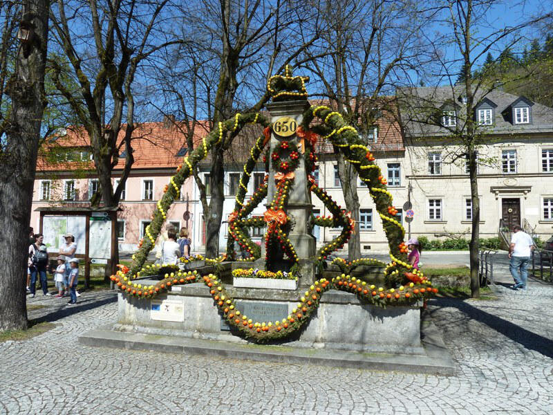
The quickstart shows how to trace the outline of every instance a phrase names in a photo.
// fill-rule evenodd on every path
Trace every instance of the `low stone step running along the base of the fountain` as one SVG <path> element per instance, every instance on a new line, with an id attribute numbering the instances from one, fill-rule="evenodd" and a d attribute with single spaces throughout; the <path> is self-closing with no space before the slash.
<path id="1" fill-rule="evenodd" d="M 445 347 L 440 331 L 431 322 L 429 315 L 426 315 L 421 324 L 421 343 L 426 356 L 236 344 L 169 335 L 124 333 L 115 331 L 112 327 L 112 325 L 108 325 L 88 331 L 79 336 L 79 343 L 93 347 L 186 353 L 189 355 L 254 360 L 256 362 L 282 362 L 443 376 L 453 376 L 456 373 L 456 365 L 447 347 Z"/>

